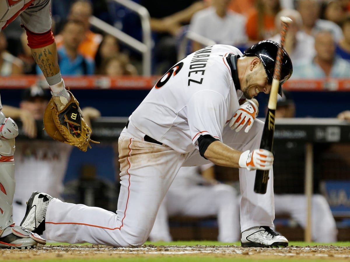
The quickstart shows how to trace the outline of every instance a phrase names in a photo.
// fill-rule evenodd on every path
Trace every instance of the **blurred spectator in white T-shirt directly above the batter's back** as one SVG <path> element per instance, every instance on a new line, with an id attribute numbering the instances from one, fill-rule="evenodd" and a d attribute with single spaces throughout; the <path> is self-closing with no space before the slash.
<path id="1" fill-rule="evenodd" d="M 244 15 L 228 9 L 230 0 L 213 0 L 212 6 L 196 12 L 190 22 L 189 30 L 212 39 L 217 44 L 240 46 L 247 42 Z M 193 42 L 193 50 L 204 46 Z"/>

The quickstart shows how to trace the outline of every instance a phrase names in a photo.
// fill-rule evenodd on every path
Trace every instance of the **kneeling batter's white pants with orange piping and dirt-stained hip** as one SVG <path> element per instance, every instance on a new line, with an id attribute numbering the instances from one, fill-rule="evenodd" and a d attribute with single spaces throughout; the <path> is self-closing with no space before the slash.
<path id="1" fill-rule="evenodd" d="M 263 125 L 256 119 L 249 133 L 236 133 L 226 126 L 223 142 L 241 151 L 259 148 Z M 146 142 L 144 135 L 129 128 L 124 128 L 120 134 L 121 189 L 117 212 L 63 203 L 54 198 L 46 214 L 49 240 L 114 247 L 137 247 L 147 240 L 159 206 L 180 167 L 203 165 L 209 160 L 202 158 L 198 150 L 182 154 L 168 146 Z M 240 168 L 239 173 L 241 231 L 260 225 L 272 227 L 272 179 L 266 194 L 261 195 L 253 190 L 255 171 Z"/>

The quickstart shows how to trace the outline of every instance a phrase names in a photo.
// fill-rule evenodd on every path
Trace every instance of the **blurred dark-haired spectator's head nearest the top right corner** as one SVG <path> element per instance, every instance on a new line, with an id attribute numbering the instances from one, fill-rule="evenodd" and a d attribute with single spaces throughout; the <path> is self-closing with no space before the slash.
<path id="1" fill-rule="evenodd" d="M 340 0 L 323 1 L 321 5 L 320 18 L 336 23 L 341 26 L 346 15 L 346 11 Z"/>

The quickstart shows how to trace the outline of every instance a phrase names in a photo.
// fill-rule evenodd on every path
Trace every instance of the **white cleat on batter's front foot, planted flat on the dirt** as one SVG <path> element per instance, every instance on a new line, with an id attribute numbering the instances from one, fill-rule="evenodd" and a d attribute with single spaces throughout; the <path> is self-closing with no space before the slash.
<path id="1" fill-rule="evenodd" d="M 242 247 L 287 247 L 288 240 L 268 226 L 254 226 L 242 232 Z"/>

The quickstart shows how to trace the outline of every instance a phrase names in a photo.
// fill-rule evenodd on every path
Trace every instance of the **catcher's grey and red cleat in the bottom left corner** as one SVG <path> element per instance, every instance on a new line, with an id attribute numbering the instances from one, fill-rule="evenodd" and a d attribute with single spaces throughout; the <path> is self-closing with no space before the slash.
<path id="1" fill-rule="evenodd" d="M 21 226 L 12 225 L 11 233 L 0 237 L 0 248 L 30 249 L 36 248 L 38 244 L 45 245 L 46 240 Z"/>

